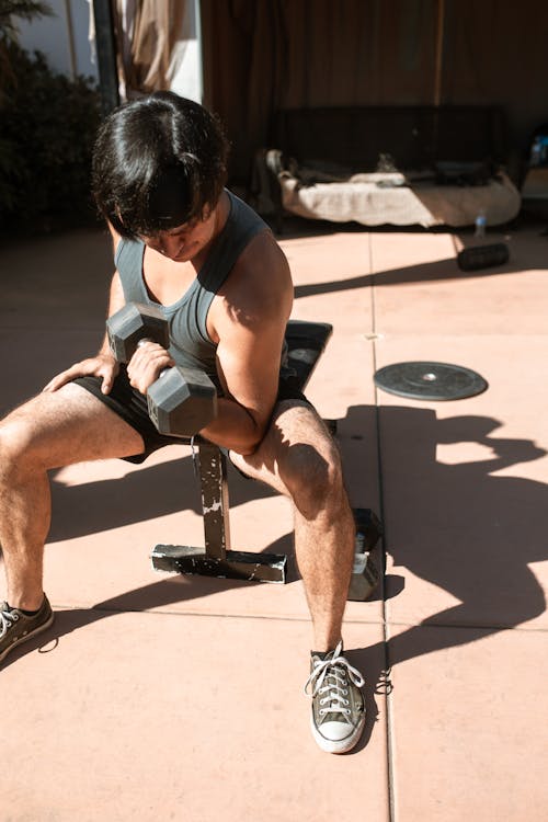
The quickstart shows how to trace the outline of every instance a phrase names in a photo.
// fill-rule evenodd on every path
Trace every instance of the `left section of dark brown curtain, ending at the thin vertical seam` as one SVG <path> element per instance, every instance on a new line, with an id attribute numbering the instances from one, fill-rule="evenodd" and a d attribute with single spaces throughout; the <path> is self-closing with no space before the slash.
<path id="1" fill-rule="evenodd" d="M 437 0 L 202 0 L 205 103 L 244 180 L 279 109 L 432 103 Z"/>

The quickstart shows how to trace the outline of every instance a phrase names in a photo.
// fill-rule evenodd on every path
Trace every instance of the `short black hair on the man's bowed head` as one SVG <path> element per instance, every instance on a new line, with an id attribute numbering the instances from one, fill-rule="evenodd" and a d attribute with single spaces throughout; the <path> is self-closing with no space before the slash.
<path id="1" fill-rule="evenodd" d="M 123 237 L 153 237 L 215 208 L 228 141 L 204 106 L 160 91 L 115 109 L 93 149 L 99 210 Z"/>

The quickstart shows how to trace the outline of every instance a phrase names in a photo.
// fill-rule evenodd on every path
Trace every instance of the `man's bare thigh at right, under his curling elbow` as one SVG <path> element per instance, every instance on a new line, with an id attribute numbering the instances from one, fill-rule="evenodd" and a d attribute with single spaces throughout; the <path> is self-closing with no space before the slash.
<path id="1" fill-rule="evenodd" d="M 307 401 L 283 400 L 274 409 L 270 429 L 256 452 L 242 456 L 230 452 L 233 465 L 252 479 L 288 494 L 286 466 L 295 456 L 306 465 L 307 455 L 332 460 L 338 449 L 324 422 Z M 317 461 L 317 459 L 315 459 Z"/>

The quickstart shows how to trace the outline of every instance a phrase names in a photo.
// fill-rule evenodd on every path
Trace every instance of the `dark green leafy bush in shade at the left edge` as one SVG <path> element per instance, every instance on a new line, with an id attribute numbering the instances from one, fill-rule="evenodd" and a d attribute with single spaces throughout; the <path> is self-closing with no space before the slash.
<path id="1" fill-rule="evenodd" d="M 94 83 L 52 71 L 7 46 L 16 77 L 0 105 L 0 221 L 35 231 L 91 217 L 91 151 L 100 121 Z"/>

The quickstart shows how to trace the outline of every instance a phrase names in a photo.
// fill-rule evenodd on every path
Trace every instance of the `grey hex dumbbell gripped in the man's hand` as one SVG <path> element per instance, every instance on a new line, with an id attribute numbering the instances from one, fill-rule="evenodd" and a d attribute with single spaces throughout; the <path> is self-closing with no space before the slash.
<path id="1" fill-rule="evenodd" d="M 106 333 L 118 363 L 128 363 L 142 342 L 168 350 L 169 326 L 156 306 L 128 302 L 106 320 Z M 197 368 L 165 368 L 147 391 L 148 413 L 160 434 L 193 436 L 217 415 L 217 391 Z"/>

